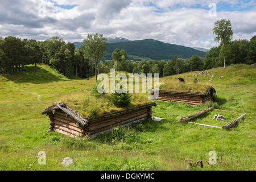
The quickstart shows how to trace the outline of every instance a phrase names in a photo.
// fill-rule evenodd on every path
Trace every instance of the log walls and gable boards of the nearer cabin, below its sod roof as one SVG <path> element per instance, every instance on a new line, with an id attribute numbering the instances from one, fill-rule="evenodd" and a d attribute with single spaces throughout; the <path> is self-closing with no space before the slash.
<path id="1" fill-rule="evenodd" d="M 68 135 L 69 137 L 97 137 L 98 133 L 111 130 L 113 127 L 131 125 L 147 118 L 151 118 L 151 107 L 155 102 L 148 102 L 127 109 L 116 110 L 97 117 L 83 118 L 76 111 L 62 102 L 44 109 L 42 114 L 50 119 L 49 131 Z"/>

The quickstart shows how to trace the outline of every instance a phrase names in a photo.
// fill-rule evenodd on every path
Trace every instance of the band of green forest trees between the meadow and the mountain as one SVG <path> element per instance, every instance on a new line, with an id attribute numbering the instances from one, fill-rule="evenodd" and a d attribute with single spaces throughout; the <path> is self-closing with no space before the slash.
<path id="1" fill-rule="evenodd" d="M 0 73 L 22 72 L 28 64 L 34 64 L 36 72 L 36 64 L 44 63 L 67 77 L 88 78 L 96 73 L 108 73 L 111 68 L 130 73 L 159 73 L 162 77 L 224 66 L 221 45 L 211 48 L 204 59 L 194 55 L 190 59 L 174 56 L 169 61 L 130 61 L 125 50 L 115 49 L 113 60 L 104 61 L 101 57 L 106 45 L 102 46 L 100 55 L 92 57 L 88 55 L 90 51 L 86 51 L 85 47 L 89 45 L 86 40 L 81 49 L 76 49 L 72 43 L 65 43 L 58 37 L 43 42 L 13 36 L 0 38 Z M 250 40 L 233 40 L 225 46 L 226 65 L 253 64 L 255 61 L 256 36 Z"/>

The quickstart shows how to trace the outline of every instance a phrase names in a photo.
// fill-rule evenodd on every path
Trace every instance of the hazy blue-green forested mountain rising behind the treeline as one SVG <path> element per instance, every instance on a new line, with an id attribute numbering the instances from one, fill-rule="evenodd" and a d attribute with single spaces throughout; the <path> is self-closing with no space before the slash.
<path id="1" fill-rule="evenodd" d="M 115 48 L 125 49 L 129 59 L 133 60 L 170 60 L 174 56 L 186 59 L 193 55 L 204 57 L 206 53 L 195 48 L 163 43 L 154 39 L 131 41 L 125 38 L 109 38 L 108 42 L 106 60 L 112 59 L 112 52 Z M 73 44 L 76 48 L 81 48 L 81 43 Z"/>

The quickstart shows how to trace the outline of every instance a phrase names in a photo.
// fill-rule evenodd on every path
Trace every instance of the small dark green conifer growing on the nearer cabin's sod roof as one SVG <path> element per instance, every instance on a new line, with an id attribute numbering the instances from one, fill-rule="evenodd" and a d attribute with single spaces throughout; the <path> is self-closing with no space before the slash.
<path id="1" fill-rule="evenodd" d="M 131 102 L 131 94 L 127 93 L 112 93 L 110 101 L 117 107 L 127 107 Z"/>

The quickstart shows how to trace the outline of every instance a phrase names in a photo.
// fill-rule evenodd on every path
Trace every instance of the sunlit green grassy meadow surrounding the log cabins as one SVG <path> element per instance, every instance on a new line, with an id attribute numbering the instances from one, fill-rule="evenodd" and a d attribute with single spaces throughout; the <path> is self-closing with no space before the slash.
<path id="1" fill-rule="evenodd" d="M 215 101 L 202 106 L 156 101 L 152 115 L 162 121 L 146 120 L 94 140 L 46 134 L 49 119 L 41 114 L 69 94 L 88 92 L 94 78 L 69 80 L 48 66 L 39 67 L 38 73 L 31 65 L 24 73 L 0 75 L 0 170 L 187 170 L 185 159 L 204 163 L 204 168 L 188 170 L 255 170 L 255 67 L 231 65 L 210 69 L 206 77 L 191 72 L 160 78 L 189 76 L 185 80 L 193 81 L 195 74 L 198 84 L 216 89 Z M 216 109 L 193 121 L 222 126 L 247 115 L 232 130 L 177 122 L 209 106 Z M 213 120 L 214 114 L 227 120 Z M 46 165 L 38 164 L 39 151 L 46 152 Z M 217 152 L 216 165 L 208 165 L 209 151 Z M 68 156 L 75 162 L 63 167 L 61 161 Z"/>

